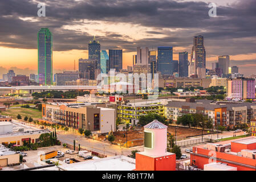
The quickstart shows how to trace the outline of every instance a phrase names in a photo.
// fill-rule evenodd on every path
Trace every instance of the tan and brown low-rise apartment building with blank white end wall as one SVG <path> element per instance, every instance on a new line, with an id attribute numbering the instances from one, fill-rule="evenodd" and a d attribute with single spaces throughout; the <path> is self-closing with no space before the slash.
<path id="1" fill-rule="evenodd" d="M 116 110 L 99 105 L 42 105 L 43 121 L 101 134 L 115 131 Z"/>

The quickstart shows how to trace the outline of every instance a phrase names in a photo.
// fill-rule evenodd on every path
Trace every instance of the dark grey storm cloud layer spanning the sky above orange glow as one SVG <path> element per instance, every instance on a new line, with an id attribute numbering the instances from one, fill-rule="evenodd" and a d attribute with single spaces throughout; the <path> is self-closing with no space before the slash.
<path id="1" fill-rule="evenodd" d="M 217 17 L 208 16 L 209 7 L 205 2 L 177 2 L 168 0 L 90 0 L 75 2 L 46 2 L 46 17 L 37 16 L 37 3 L 29 0 L 0 2 L 0 46 L 15 48 L 36 48 L 36 32 L 48 27 L 54 34 L 54 49 L 87 49 L 92 35 L 63 30 L 64 25 L 84 24 L 83 19 L 104 20 L 140 24 L 150 27 L 148 38 L 128 41 L 121 32 L 105 32 L 97 36 L 101 48 L 117 48 L 135 51 L 136 46 L 173 46 L 192 48 L 194 35 L 205 37 L 207 56 L 237 55 L 255 52 L 256 1 L 240 1 L 230 6 L 218 6 Z M 38 22 L 29 22 L 19 17 L 34 17 Z M 169 31 L 166 28 L 182 28 Z M 152 31 L 153 29 L 153 31 Z M 104 32 L 104 30 L 101 30 Z M 154 35 L 165 35 L 154 38 Z M 152 35 L 152 36 L 150 36 Z M 131 39 L 130 39 L 131 40 Z M 174 52 L 177 53 L 177 52 Z"/>

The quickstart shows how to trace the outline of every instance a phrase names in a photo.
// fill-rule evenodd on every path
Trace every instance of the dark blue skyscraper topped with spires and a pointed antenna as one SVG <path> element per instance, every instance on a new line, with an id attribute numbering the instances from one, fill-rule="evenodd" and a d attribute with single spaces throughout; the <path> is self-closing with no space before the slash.
<path id="1" fill-rule="evenodd" d="M 88 44 L 88 59 L 96 60 L 96 69 L 100 69 L 100 42 L 95 40 Z"/>

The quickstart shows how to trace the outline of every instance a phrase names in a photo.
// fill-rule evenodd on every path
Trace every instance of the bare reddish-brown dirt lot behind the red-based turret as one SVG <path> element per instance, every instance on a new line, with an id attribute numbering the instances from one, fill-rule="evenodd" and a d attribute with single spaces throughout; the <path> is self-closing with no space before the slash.
<path id="1" fill-rule="evenodd" d="M 128 141 L 129 140 L 135 140 L 135 139 L 143 139 L 144 138 L 144 129 L 141 128 L 136 131 L 128 131 Z M 167 129 L 168 133 L 175 135 L 175 127 L 169 126 Z M 210 134 L 211 131 L 207 133 L 207 131 L 204 131 L 204 134 Z M 115 136 L 115 140 L 113 141 L 114 144 L 117 143 L 125 143 L 126 142 L 126 131 L 117 131 L 113 133 Z M 124 135 L 125 134 L 125 135 Z M 177 128 L 177 140 L 185 139 L 186 137 L 193 137 L 195 135 L 201 135 L 202 130 L 200 129 L 192 129 L 192 128 L 186 128 L 186 127 L 178 127 Z M 104 136 L 99 136 L 99 139 L 103 139 Z M 121 141 L 120 141 L 121 140 Z M 143 142 L 142 142 L 143 144 Z"/>

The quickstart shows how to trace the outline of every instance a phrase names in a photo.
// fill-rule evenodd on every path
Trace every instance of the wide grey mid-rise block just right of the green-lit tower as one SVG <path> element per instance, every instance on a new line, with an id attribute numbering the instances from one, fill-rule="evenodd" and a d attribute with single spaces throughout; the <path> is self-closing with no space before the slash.
<path id="1" fill-rule="evenodd" d="M 66 85 L 66 81 L 78 80 L 78 71 L 64 71 L 63 73 L 56 73 L 56 85 Z"/>

